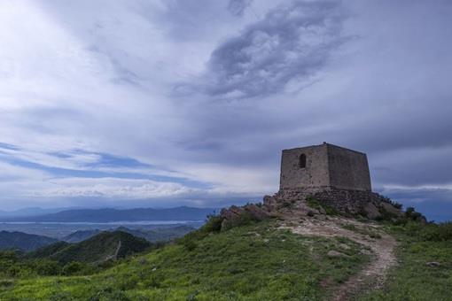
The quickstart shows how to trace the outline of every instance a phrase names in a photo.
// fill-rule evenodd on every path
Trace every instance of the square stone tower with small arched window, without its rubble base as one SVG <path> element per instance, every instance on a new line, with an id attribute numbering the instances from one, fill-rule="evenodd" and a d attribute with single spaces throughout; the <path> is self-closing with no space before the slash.
<path id="1" fill-rule="evenodd" d="M 371 191 L 367 156 L 330 143 L 284 150 L 279 189 Z"/>

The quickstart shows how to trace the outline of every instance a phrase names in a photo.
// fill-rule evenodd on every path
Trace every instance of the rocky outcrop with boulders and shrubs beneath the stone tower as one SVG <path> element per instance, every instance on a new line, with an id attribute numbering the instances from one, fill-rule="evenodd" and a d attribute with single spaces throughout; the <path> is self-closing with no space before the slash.
<path id="1" fill-rule="evenodd" d="M 331 212 L 370 220 L 396 220 L 404 215 L 401 208 L 393 205 L 389 199 L 370 191 L 280 189 L 273 196 L 265 196 L 263 205 L 233 205 L 229 209 L 222 209 L 222 230 L 277 216 L 317 216 L 324 219 L 325 214 Z"/>

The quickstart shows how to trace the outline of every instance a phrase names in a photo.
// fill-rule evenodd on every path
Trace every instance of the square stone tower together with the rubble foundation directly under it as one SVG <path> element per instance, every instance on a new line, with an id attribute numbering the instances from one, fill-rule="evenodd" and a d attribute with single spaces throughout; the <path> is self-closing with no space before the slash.
<path id="1" fill-rule="evenodd" d="M 372 192 L 366 154 L 330 143 L 284 150 L 279 191 L 264 197 L 264 205 L 270 211 L 300 209 L 309 197 L 339 212 L 371 219 L 381 212 L 400 212 Z"/>

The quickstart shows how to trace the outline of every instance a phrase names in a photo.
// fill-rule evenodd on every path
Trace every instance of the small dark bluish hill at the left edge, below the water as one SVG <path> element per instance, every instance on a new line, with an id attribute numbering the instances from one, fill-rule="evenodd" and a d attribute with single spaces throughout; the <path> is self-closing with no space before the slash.
<path id="1" fill-rule="evenodd" d="M 42 235 L 0 231 L 0 250 L 34 251 L 56 242 L 58 239 Z"/>

